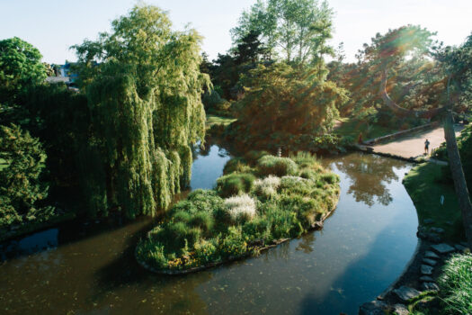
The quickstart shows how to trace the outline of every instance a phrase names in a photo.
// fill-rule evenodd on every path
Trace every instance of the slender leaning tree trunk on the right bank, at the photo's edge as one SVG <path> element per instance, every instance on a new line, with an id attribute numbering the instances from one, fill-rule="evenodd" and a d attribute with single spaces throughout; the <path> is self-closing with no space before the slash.
<path id="1" fill-rule="evenodd" d="M 460 161 L 458 142 L 454 131 L 454 121 L 452 112 L 449 110 L 443 116 L 444 137 L 446 138 L 446 148 L 448 150 L 450 172 L 454 181 L 454 188 L 458 195 L 459 208 L 462 212 L 462 221 L 468 238 L 468 247 L 472 248 L 472 203 L 468 195 L 468 185 Z"/>

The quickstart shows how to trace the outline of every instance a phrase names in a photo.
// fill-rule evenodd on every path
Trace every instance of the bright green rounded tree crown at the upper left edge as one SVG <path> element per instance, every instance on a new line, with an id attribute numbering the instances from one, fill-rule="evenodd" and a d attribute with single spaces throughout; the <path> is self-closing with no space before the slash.
<path id="1" fill-rule="evenodd" d="M 40 50 L 13 37 L 0 40 L 0 103 L 13 104 L 27 87 L 46 79 Z"/>

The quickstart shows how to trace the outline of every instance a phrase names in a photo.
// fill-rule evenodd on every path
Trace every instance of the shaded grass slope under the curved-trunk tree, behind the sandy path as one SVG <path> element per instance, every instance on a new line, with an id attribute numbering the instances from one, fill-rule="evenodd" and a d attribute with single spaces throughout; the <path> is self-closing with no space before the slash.
<path id="1" fill-rule="evenodd" d="M 367 140 L 386 136 L 387 134 L 398 131 L 378 125 L 368 125 L 365 121 L 360 121 L 355 118 L 341 118 L 339 121 L 341 122 L 341 126 L 335 129 L 334 133 L 342 136 L 351 136 L 354 139 L 357 139 L 361 132 L 362 139 Z"/>

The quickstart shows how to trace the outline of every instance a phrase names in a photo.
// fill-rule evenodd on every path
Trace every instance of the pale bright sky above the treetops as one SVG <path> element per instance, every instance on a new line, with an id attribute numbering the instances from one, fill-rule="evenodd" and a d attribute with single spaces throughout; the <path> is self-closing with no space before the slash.
<path id="1" fill-rule="evenodd" d="M 175 30 L 190 26 L 203 35 L 210 59 L 231 47 L 229 30 L 256 0 L 147 0 L 168 11 Z M 377 32 L 405 24 L 437 31 L 446 45 L 459 45 L 472 32 L 472 0 L 328 0 L 334 9 L 334 47 L 343 41 L 355 60 Z M 19 37 L 40 49 L 43 61 L 76 60 L 70 46 L 95 40 L 111 21 L 127 14 L 136 0 L 0 0 L 0 40 Z"/>

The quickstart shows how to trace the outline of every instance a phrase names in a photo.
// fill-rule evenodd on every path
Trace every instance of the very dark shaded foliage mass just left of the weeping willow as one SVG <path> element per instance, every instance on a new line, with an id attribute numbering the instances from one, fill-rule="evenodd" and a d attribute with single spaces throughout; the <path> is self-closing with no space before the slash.
<path id="1" fill-rule="evenodd" d="M 91 121 L 85 95 L 70 91 L 66 85 L 34 85 L 22 94 L 19 103 L 28 112 L 26 128 L 40 139 L 48 156 L 46 167 L 51 190 L 70 187 L 80 191 L 79 175 L 82 171 L 89 175 L 91 169 L 85 167 L 79 171 L 78 168 L 84 148 L 89 146 Z"/>

